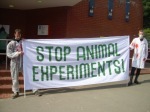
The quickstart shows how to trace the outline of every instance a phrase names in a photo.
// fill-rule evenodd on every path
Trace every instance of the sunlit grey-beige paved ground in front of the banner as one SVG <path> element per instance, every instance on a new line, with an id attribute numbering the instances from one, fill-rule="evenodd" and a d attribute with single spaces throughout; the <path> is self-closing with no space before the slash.
<path id="1" fill-rule="evenodd" d="M 130 87 L 124 81 L 0 99 L 0 112 L 150 112 L 150 75 L 139 80 L 142 84 Z"/>

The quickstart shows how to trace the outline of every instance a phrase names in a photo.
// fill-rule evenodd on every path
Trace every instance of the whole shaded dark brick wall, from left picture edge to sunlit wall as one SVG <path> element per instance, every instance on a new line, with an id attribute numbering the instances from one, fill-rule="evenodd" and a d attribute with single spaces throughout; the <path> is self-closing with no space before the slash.
<path id="1" fill-rule="evenodd" d="M 0 24 L 10 25 L 10 36 L 16 28 L 22 29 L 24 38 L 63 38 L 66 36 L 68 7 L 33 10 L 0 9 Z M 38 25 L 49 25 L 49 35 L 38 36 Z"/>

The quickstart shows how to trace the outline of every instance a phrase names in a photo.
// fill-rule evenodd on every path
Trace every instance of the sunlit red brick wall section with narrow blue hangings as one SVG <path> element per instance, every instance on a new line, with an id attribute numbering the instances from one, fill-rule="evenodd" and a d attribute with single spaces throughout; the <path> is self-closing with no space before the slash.
<path id="1" fill-rule="evenodd" d="M 108 0 L 95 0 L 94 17 L 88 17 L 88 0 L 83 0 L 68 11 L 67 37 L 130 35 L 132 38 L 143 26 L 143 11 L 141 0 L 131 1 L 130 21 L 125 22 L 125 3 L 114 0 L 113 19 L 108 20 Z"/>

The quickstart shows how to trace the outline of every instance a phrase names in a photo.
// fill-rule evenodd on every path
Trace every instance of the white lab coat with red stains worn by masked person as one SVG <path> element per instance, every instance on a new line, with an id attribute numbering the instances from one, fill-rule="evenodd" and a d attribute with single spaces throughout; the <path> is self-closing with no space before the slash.
<path id="1" fill-rule="evenodd" d="M 132 58 L 132 67 L 144 68 L 145 59 L 148 57 L 148 42 L 144 38 L 143 41 L 140 38 L 135 38 L 130 44 L 130 49 L 134 49 L 134 54 Z"/>

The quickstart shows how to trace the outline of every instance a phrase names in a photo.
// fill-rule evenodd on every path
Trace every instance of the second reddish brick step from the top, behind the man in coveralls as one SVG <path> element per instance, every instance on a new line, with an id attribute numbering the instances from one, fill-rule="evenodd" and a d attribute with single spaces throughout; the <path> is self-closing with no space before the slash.
<path id="1" fill-rule="evenodd" d="M 23 83 L 24 83 L 23 77 L 19 77 L 19 84 Z M 7 85 L 7 84 L 12 84 L 11 77 L 0 77 L 0 85 Z"/>

